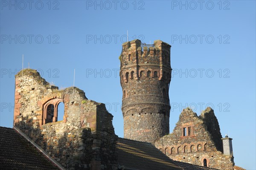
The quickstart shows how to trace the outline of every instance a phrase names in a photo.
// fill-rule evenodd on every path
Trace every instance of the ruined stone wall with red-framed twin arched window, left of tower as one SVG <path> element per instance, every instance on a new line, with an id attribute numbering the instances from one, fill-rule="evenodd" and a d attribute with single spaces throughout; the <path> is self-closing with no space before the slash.
<path id="1" fill-rule="evenodd" d="M 58 121 L 60 102 L 64 117 Z M 47 111 L 49 105 L 54 111 Z M 88 100 L 78 88 L 58 90 L 32 69 L 16 75 L 14 126 L 68 170 L 115 169 L 112 119 L 104 104 Z"/>

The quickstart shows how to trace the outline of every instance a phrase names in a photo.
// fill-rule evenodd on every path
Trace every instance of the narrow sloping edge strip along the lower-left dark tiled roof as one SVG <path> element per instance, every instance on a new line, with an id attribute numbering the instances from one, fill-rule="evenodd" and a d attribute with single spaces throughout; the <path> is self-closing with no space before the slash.
<path id="1" fill-rule="evenodd" d="M 52 162 L 56 167 L 58 167 L 60 170 L 66 170 L 64 167 L 61 166 L 57 161 L 52 159 L 40 146 L 38 146 L 35 142 L 33 142 L 28 136 L 26 136 L 25 133 L 23 133 L 19 128 L 13 127 L 16 133 L 18 133 L 20 136 L 22 136 L 24 139 L 26 139 L 28 142 L 30 142 L 34 147 L 36 147 L 37 150 L 39 150 L 49 161 Z"/>

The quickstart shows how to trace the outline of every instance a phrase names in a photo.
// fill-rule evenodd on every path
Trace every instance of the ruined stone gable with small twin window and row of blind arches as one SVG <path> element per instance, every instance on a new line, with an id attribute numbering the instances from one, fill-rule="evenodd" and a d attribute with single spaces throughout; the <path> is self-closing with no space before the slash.
<path id="1" fill-rule="evenodd" d="M 215 117 L 213 110 L 207 108 L 200 117 Z M 155 146 L 176 161 L 183 161 L 200 166 L 207 165 L 220 170 L 233 170 L 233 155 L 226 156 L 218 150 L 214 137 L 207 130 L 209 126 L 191 109 L 184 109 L 173 133 L 163 136 Z M 209 121 L 209 120 L 208 120 Z M 217 119 L 212 123 L 218 125 Z M 217 121 L 217 122 L 216 122 Z M 209 123 L 209 122 L 208 122 Z M 219 127 L 212 133 L 220 134 Z M 204 164 L 206 159 L 206 164 Z"/>

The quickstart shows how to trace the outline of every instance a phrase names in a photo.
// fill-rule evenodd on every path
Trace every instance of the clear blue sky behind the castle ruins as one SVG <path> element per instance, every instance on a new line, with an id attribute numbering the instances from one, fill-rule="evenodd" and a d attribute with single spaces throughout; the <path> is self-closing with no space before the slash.
<path id="1" fill-rule="evenodd" d="M 201 2 L 201 3 L 200 3 Z M 134 38 L 172 45 L 170 132 L 187 106 L 214 109 L 235 163 L 255 170 L 256 4 L 230 1 L 5 1 L 0 9 L 0 125 L 12 127 L 15 73 L 38 69 L 106 104 L 123 137 L 119 55 Z"/>

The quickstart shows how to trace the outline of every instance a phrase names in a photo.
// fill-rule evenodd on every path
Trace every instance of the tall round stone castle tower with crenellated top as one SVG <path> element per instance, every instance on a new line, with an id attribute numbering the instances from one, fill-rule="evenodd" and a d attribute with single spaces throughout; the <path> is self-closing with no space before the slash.
<path id="1" fill-rule="evenodd" d="M 171 45 L 160 40 L 122 44 L 120 82 L 124 137 L 154 143 L 169 133 Z"/>

